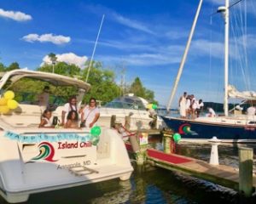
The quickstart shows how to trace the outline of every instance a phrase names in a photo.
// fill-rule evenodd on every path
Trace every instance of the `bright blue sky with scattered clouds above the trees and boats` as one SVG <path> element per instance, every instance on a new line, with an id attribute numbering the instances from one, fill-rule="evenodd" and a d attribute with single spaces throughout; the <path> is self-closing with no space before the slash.
<path id="1" fill-rule="evenodd" d="M 235 3 L 236 1 L 230 1 Z M 140 77 L 166 105 L 189 37 L 199 0 L 1 0 L 0 62 L 17 61 L 35 70 L 47 54 L 84 68 L 90 60 L 104 14 L 94 59 L 122 73 L 130 84 Z M 204 0 L 188 59 L 172 106 L 183 91 L 204 101 L 223 102 L 224 20 L 216 14 L 224 0 Z M 255 83 L 256 3 L 230 8 L 230 83 L 239 90 Z M 245 57 L 246 56 L 246 57 Z M 254 75 L 253 75 L 254 74 Z"/>

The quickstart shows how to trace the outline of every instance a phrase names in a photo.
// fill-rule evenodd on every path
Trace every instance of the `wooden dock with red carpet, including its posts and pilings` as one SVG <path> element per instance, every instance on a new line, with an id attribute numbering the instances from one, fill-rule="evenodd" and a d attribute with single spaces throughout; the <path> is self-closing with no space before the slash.
<path id="1" fill-rule="evenodd" d="M 148 131 L 140 133 L 144 136 L 150 134 Z M 206 161 L 173 153 L 175 143 L 172 132 L 163 133 L 164 151 L 155 150 L 147 145 L 144 136 L 143 138 L 138 137 L 138 144 L 136 145 L 134 145 L 136 141 L 134 137 L 131 139 L 131 144 L 125 143 L 126 149 L 136 154 L 138 165 L 148 163 L 154 167 L 162 167 L 172 172 L 201 178 L 212 182 L 212 184 L 219 184 L 236 190 L 245 197 L 251 197 L 256 190 L 256 174 L 253 174 L 253 149 L 241 148 L 239 150 L 239 169 L 237 169 L 226 165 L 218 165 L 218 158 L 212 160 L 211 157 L 214 162 L 211 163 L 210 160 L 210 163 L 207 163 Z M 136 146 L 136 150 L 134 146 Z M 137 146 L 140 146 L 140 148 Z M 217 150 L 218 156 L 218 144 L 212 143 L 212 150 Z"/>

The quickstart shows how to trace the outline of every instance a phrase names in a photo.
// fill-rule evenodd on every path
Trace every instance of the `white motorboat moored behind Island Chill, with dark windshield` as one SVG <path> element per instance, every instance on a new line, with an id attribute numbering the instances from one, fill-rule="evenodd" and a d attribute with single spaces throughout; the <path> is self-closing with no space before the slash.
<path id="1" fill-rule="evenodd" d="M 148 101 L 141 97 L 134 96 L 134 94 L 127 94 L 125 96 L 113 99 L 107 105 L 100 108 L 101 117 L 98 124 L 103 127 L 109 127 L 111 116 L 116 116 L 116 120 L 125 124 L 125 116 L 131 117 L 130 129 L 150 129 L 152 128 L 154 118 L 152 113 L 147 110 Z M 157 112 L 155 112 L 156 116 Z M 163 120 L 157 116 L 155 128 L 163 127 Z"/>

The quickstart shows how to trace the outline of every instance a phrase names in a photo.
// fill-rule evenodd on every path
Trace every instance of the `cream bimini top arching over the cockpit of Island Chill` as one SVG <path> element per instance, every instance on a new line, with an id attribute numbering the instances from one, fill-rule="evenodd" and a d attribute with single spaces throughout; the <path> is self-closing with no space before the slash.
<path id="1" fill-rule="evenodd" d="M 10 80 L 10 82 L 15 83 L 21 78 L 33 78 L 44 82 L 49 82 L 55 86 L 73 86 L 84 89 L 86 92 L 90 89 L 90 84 L 82 80 L 66 77 L 58 74 L 52 74 L 43 71 L 27 71 L 27 70 L 14 70 L 6 72 L 2 79 L 0 80 L 0 89 L 3 85 Z"/>

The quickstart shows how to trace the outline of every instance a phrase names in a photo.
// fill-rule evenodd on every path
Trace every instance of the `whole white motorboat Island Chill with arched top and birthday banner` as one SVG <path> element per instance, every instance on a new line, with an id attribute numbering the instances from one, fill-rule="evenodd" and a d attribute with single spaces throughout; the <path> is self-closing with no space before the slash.
<path id="1" fill-rule="evenodd" d="M 2 77 L 2 94 L 24 77 L 76 87 L 79 104 L 90 89 L 90 84 L 71 77 L 15 70 Z M 53 115 L 61 118 L 62 108 L 57 107 Z M 0 115 L 0 194 L 6 201 L 27 201 L 33 193 L 130 178 L 133 168 L 115 130 L 102 127 L 98 141 L 88 128 L 38 128 L 40 116 L 38 105 L 27 104 Z"/>

